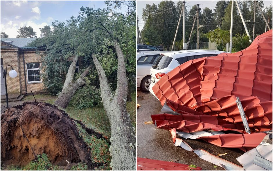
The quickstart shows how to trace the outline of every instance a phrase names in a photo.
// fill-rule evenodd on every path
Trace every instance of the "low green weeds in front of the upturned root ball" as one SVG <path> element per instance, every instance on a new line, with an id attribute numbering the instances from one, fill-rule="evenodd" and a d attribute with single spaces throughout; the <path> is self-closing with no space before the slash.
<path id="1" fill-rule="evenodd" d="M 30 161 L 30 163 L 24 166 L 23 170 L 58 170 L 57 167 L 53 166 L 46 154 L 43 153 L 38 155 L 36 160 Z"/>

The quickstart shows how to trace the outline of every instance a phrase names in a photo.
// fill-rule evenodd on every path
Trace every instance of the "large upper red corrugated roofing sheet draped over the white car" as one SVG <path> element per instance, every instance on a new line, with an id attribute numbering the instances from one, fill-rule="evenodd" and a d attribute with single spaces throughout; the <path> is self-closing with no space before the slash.
<path id="1" fill-rule="evenodd" d="M 162 105 L 168 99 L 191 109 L 227 95 L 272 101 L 272 30 L 240 52 L 185 62 L 152 89 Z"/>

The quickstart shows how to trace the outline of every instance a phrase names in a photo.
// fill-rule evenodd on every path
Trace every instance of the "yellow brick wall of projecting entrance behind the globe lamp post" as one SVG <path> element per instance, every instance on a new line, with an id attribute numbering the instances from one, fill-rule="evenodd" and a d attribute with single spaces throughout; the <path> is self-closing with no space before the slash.
<path id="1" fill-rule="evenodd" d="M 1 58 L 3 60 L 3 67 L 6 69 L 7 65 L 17 71 L 17 77 L 11 78 L 9 72 L 11 67 L 7 67 L 7 89 L 8 93 L 20 93 L 20 79 L 19 79 L 19 52 L 18 48 L 1 49 Z"/>

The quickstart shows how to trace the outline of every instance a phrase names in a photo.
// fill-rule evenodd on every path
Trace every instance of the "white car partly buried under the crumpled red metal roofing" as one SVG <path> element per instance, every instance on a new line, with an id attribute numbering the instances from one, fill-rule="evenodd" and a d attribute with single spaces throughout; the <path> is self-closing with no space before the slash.
<path id="1" fill-rule="evenodd" d="M 149 87 L 150 94 L 157 98 L 155 93 L 152 90 L 152 87 L 155 85 L 159 79 L 164 76 L 166 73 L 173 70 L 175 67 L 181 65 L 184 62 L 187 62 L 192 59 L 203 58 L 206 56 L 216 56 L 221 53 L 228 53 L 218 50 L 181 50 L 181 51 L 170 51 L 162 52 L 155 64 L 152 65 L 150 69 L 151 75 L 151 84 Z M 158 99 L 158 98 L 157 98 Z"/>

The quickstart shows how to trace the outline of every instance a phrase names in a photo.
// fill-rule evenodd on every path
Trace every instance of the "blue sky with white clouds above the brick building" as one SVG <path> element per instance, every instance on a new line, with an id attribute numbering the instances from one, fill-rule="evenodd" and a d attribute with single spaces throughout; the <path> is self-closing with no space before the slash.
<path id="1" fill-rule="evenodd" d="M 16 38 L 18 29 L 26 25 L 33 27 L 39 37 L 39 28 L 57 19 L 65 21 L 78 16 L 82 6 L 107 7 L 104 1 L 1 1 L 1 32 Z"/>

